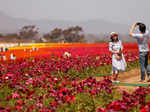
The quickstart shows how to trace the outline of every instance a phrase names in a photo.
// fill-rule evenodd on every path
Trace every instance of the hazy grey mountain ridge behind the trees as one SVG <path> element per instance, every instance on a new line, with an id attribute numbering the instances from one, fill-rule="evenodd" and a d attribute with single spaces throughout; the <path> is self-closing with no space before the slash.
<path id="1" fill-rule="evenodd" d="M 106 34 L 112 31 L 126 34 L 128 32 L 128 25 L 113 23 L 102 19 L 87 20 L 87 21 L 69 21 L 69 20 L 28 20 L 24 18 L 13 18 L 0 12 L 0 33 L 14 33 L 25 25 L 36 25 L 40 33 L 50 32 L 52 29 L 68 28 L 70 26 L 81 26 L 83 31 L 88 34 Z"/>

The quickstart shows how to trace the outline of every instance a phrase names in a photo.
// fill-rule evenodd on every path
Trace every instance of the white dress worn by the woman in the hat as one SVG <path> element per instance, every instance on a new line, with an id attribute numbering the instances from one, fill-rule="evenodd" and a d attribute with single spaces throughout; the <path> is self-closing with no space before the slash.
<path id="1" fill-rule="evenodd" d="M 118 42 L 109 42 L 109 51 L 119 51 L 120 49 L 123 49 L 121 40 L 119 40 Z M 125 71 L 125 68 L 127 66 L 123 53 L 121 60 L 116 59 L 117 55 L 118 54 L 112 54 L 112 73 L 115 74 L 118 74 L 118 70 Z"/>

